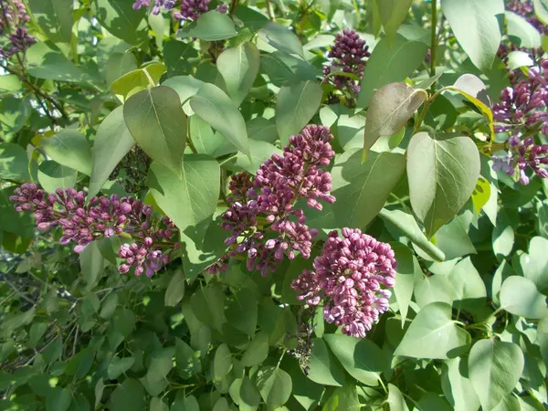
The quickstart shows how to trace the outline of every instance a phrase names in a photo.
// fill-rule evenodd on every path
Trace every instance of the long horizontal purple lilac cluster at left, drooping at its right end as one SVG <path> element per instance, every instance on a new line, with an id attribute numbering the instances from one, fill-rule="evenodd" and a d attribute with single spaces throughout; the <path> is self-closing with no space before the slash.
<path id="1" fill-rule="evenodd" d="M 37 184 L 26 183 L 16 188 L 9 199 L 16 203 L 17 212 L 34 211 L 38 229 L 61 227 L 60 243 L 74 243 L 76 253 L 104 237 L 133 238 L 137 242 L 120 248 L 119 256 L 125 259 L 119 268 L 121 273 L 134 266 L 135 275 L 146 269 L 146 274 L 152 276 L 169 261 L 169 255 L 159 248 L 178 248 L 178 243 L 170 242 L 177 234 L 173 222 L 167 217 L 153 221 L 153 207 L 133 197 L 93 197 L 86 204 L 82 191 L 58 188 L 55 194 L 46 195 Z"/>

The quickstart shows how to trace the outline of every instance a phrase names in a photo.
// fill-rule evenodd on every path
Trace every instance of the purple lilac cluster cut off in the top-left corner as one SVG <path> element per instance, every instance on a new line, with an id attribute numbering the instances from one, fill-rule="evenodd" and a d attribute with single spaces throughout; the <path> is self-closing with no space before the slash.
<path id="1" fill-rule="evenodd" d="M 26 29 L 25 25 L 29 21 L 29 16 L 22 0 L 13 0 L 13 5 L 6 0 L 0 0 L 0 9 L 2 11 L 0 32 L 10 33 L 7 36 L 9 44 L 0 47 L 0 58 L 10 58 L 32 46 L 35 39 Z"/>

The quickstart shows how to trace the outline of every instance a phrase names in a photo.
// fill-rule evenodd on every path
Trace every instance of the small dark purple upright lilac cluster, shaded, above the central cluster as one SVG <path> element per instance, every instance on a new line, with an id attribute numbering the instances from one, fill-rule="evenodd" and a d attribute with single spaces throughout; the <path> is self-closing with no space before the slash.
<path id="1" fill-rule="evenodd" d="M 354 30 L 345 28 L 342 33 L 337 34 L 335 44 L 327 57 L 332 58 L 330 66 L 323 67 L 325 76 L 336 73 L 348 73 L 357 77 L 353 79 L 348 76 L 335 75 L 332 83 L 338 90 L 350 90 L 357 94 L 360 91 L 360 80 L 364 77 L 365 61 L 364 58 L 371 56 L 369 47 L 365 45 L 358 33 Z"/>

